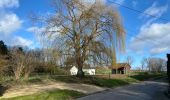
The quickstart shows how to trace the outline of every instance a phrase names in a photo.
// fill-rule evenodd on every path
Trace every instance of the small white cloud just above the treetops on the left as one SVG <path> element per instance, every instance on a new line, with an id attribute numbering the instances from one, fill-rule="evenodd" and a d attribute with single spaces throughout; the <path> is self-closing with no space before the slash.
<path id="1" fill-rule="evenodd" d="M 23 37 L 20 36 L 15 36 L 13 39 L 13 45 L 14 46 L 26 46 L 26 47 L 30 47 L 33 44 L 33 41 L 25 39 Z"/>

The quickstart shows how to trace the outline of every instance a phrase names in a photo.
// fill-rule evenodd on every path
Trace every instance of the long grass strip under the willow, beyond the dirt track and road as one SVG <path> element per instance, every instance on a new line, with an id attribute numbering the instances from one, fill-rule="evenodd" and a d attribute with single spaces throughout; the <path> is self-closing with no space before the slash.
<path id="1" fill-rule="evenodd" d="M 91 84 L 91 85 L 97 85 L 101 87 L 116 87 L 116 86 L 122 86 L 127 85 L 130 83 L 136 83 L 148 79 L 158 78 L 165 76 L 165 74 L 162 73 L 138 73 L 135 75 L 130 75 L 129 77 L 100 77 L 100 76 L 86 76 L 83 79 L 79 79 L 75 76 L 55 76 L 55 75 L 37 75 L 37 76 L 31 76 L 28 80 L 20 80 L 20 81 L 14 81 L 12 78 L 9 78 L 9 80 L 5 80 L 3 82 L 4 85 L 8 86 L 15 86 L 15 85 L 24 85 L 24 84 L 43 84 L 48 83 L 48 81 L 61 81 L 66 83 L 83 83 L 83 84 Z"/>

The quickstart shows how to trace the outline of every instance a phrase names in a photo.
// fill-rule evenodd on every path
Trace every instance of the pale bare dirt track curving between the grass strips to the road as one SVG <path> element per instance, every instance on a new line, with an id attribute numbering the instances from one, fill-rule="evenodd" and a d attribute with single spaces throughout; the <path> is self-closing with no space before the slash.
<path id="1" fill-rule="evenodd" d="M 87 84 L 50 82 L 48 84 L 23 85 L 23 86 L 11 87 L 0 98 L 11 98 L 11 97 L 17 97 L 23 95 L 30 95 L 30 94 L 44 92 L 53 89 L 75 90 L 85 94 L 91 94 L 91 93 L 105 90 L 105 88 L 101 88 L 93 85 L 87 85 Z"/>

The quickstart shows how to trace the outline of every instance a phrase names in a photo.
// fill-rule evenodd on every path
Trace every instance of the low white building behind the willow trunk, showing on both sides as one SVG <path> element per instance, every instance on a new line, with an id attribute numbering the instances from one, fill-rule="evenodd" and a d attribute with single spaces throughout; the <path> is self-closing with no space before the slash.
<path id="1" fill-rule="evenodd" d="M 73 66 L 70 69 L 70 74 L 71 75 L 77 75 L 78 68 L 76 66 Z M 95 75 L 95 69 L 83 69 L 83 72 L 89 75 Z"/>

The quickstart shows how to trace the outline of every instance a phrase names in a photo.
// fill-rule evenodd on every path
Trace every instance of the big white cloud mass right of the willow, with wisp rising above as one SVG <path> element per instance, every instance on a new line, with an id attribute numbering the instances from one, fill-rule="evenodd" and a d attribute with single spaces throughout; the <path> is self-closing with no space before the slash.
<path id="1" fill-rule="evenodd" d="M 141 26 L 139 34 L 131 38 L 130 51 L 152 55 L 170 51 L 170 23 L 154 23 L 167 10 L 168 5 L 158 6 L 155 2 L 144 11 L 156 17 L 145 14 L 140 16 L 142 19 L 147 18 L 147 21 Z"/>

